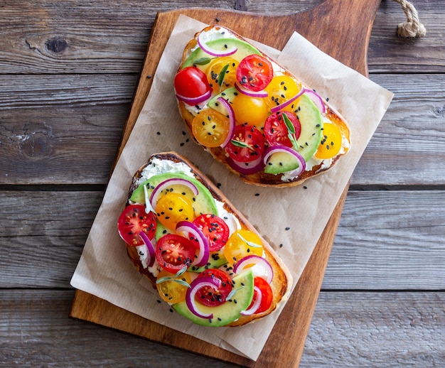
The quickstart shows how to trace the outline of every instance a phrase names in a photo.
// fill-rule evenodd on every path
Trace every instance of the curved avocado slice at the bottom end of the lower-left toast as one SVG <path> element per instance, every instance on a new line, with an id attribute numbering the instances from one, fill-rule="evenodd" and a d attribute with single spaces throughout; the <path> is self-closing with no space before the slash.
<path id="1" fill-rule="evenodd" d="M 199 308 L 203 313 L 213 313 L 213 318 L 200 318 L 191 313 L 188 309 L 186 301 L 173 304 L 173 309 L 180 315 L 188 318 L 192 322 L 209 327 L 220 327 L 228 325 L 240 318 L 242 310 L 249 308 L 253 298 L 254 276 L 252 270 L 244 271 L 242 274 L 233 278 L 233 288 L 240 288 L 229 301 L 218 305 L 218 307 L 208 307 L 200 305 Z"/>

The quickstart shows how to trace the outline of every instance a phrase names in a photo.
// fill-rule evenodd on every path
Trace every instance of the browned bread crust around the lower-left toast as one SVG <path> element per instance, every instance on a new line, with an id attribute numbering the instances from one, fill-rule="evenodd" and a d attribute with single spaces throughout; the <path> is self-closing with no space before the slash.
<path id="1" fill-rule="evenodd" d="M 129 187 L 129 193 L 128 193 L 128 200 L 127 205 L 130 204 L 129 198 L 132 196 L 132 193 L 139 185 L 139 179 L 141 178 L 141 173 L 144 170 L 144 168 L 149 165 L 151 160 L 153 158 L 158 158 L 161 160 L 169 160 L 173 162 L 182 162 L 186 163 L 187 166 L 191 168 L 191 172 L 195 176 L 197 180 L 200 181 L 200 183 L 203 183 L 206 188 L 210 191 L 211 195 L 215 200 L 218 200 L 220 202 L 224 203 L 225 210 L 227 212 L 232 213 L 232 215 L 235 215 L 237 217 L 237 220 L 240 222 L 243 228 L 249 229 L 250 231 L 254 232 L 255 234 L 258 234 L 259 237 L 261 235 L 257 232 L 257 229 L 255 229 L 252 224 L 240 213 L 234 205 L 225 197 L 225 195 L 207 178 L 205 175 L 199 171 L 196 166 L 191 163 L 191 161 L 188 161 L 187 158 L 178 155 L 176 152 L 164 152 L 164 153 L 156 153 L 153 156 L 149 158 L 149 161 L 139 168 L 139 170 L 134 174 L 134 177 L 132 178 L 132 183 Z M 286 299 L 289 297 L 289 293 L 291 291 L 292 286 L 292 276 L 289 272 L 289 269 L 287 269 L 286 265 L 283 263 L 283 261 L 279 258 L 279 256 L 275 253 L 272 246 L 263 238 L 261 237 L 263 246 L 264 246 L 264 254 L 267 261 L 269 261 L 269 264 L 271 264 L 273 272 L 274 272 L 274 278 L 271 283 L 272 291 L 273 291 L 273 301 L 270 308 L 263 313 L 259 313 L 256 315 L 242 315 L 240 318 L 235 320 L 234 322 L 230 323 L 227 326 L 240 326 L 245 325 L 247 323 L 250 323 L 254 320 L 257 320 L 259 318 L 263 318 L 266 315 L 269 315 L 274 310 L 277 309 L 277 306 L 279 303 L 286 301 Z M 149 269 L 144 269 L 144 266 L 141 263 L 141 260 L 139 259 L 139 254 L 136 250 L 136 247 L 132 247 L 129 244 L 127 245 L 127 254 L 129 258 L 132 260 L 134 266 L 136 266 L 136 269 L 144 276 L 146 276 L 152 283 L 153 287 L 156 288 L 156 277 L 151 274 Z"/>

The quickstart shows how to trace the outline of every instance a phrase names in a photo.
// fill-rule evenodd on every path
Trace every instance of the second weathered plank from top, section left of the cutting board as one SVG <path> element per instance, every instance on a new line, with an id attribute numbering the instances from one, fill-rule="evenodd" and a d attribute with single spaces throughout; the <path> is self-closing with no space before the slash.
<path id="1" fill-rule="evenodd" d="M 136 75 L 0 76 L 4 184 L 105 183 Z"/>

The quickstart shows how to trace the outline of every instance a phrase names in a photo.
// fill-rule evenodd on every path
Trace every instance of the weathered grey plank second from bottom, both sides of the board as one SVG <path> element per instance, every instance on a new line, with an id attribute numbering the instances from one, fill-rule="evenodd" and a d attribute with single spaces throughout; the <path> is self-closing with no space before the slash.
<path id="1" fill-rule="evenodd" d="M 0 192 L 0 288 L 68 287 L 101 200 L 102 192 Z M 439 190 L 350 191 L 323 289 L 445 289 L 444 203 Z"/>

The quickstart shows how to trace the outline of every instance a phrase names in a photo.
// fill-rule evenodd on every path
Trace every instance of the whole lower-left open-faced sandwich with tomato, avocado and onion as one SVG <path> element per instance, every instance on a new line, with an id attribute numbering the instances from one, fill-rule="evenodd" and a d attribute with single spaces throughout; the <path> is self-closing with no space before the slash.
<path id="1" fill-rule="evenodd" d="M 160 298 L 198 325 L 245 325 L 289 296 L 291 275 L 272 247 L 177 153 L 137 171 L 117 227 Z"/>

